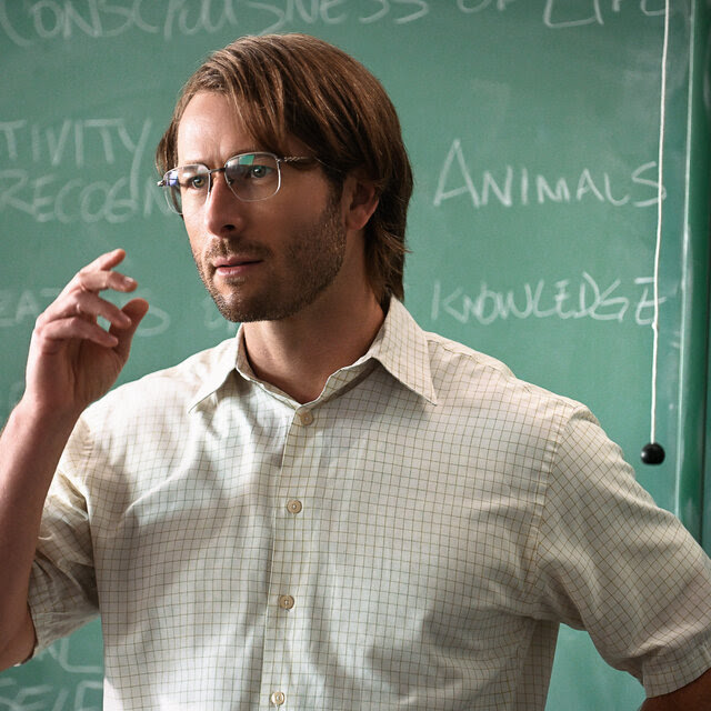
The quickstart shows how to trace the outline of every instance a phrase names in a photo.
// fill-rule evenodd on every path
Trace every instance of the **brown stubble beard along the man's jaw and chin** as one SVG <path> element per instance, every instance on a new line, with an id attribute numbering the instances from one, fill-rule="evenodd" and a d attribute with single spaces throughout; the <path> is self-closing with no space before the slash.
<path id="1" fill-rule="evenodd" d="M 246 296 L 239 287 L 226 299 L 196 259 L 200 278 L 224 319 L 232 322 L 279 321 L 313 303 L 333 282 L 343 264 L 346 228 L 341 221 L 339 198 L 332 193 L 319 219 L 309 228 L 291 234 L 282 263 L 289 273 L 273 290 Z"/>

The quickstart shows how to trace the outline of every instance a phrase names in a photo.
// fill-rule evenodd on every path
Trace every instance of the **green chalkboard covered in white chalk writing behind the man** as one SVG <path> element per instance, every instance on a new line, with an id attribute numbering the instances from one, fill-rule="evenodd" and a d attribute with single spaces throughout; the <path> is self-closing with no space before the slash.
<path id="1" fill-rule="evenodd" d="M 110 248 L 127 249 L 151 303 L 121 380 L 233 333 L 166 212 L 152 152 L 209 51 L 304 31 L 367 64 L 400 111 L 417 180 L 405 301 L 420 323 L 588 403 L 700 537 L 709 2 L 672 0 L 668 21 L 661 467 L 639 451 L 652 404 L 663 0 L 0 0 L 0 419 L 22 391 L 36 317 Z M 0 708 L 99 709 L 100 679 L 93 623 L 0 674 Z M 642 698 L 584 634 L 562 630 L 550 711 Z"/>

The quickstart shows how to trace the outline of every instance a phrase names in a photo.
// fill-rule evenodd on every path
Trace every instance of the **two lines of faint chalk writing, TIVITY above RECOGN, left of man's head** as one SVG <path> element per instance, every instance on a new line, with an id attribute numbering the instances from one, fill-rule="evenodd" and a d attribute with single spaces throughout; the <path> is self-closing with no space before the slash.
<path id="1" fill-rule="evenodd" d="M 64 119 L 49 127 L 27 119 L 0 121 L 0 162 L 18 163 L 0 170 L 0 213 L 63 224 L 168 213 L 156 178 L 141 172 L 151 126 L 144 119 L 132 133 L 126 119 Z M 88 154 L 101 164 L 100 177 L 87 174 Z M 127 161 L 121 174 L 119 166 Z"/>

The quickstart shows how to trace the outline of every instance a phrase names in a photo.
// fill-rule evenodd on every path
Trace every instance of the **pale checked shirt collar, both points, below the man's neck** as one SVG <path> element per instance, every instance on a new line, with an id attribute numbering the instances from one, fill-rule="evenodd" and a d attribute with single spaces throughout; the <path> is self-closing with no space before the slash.
<path id="1" fill-rule="evenodd" d="M 385 320 L 368 351 L 348 369 L 359 369 L 370 360 L 377 360 L 405 388 L 437 404 L 427 334 L 397 299 L 391 299 Z M 211 361 L 209 375 L 196 393 L 190 410 L 217 392 L 234 371 L 256 380 L 247 359 L 241 326 L 233 339 L 214 349 Z"/>

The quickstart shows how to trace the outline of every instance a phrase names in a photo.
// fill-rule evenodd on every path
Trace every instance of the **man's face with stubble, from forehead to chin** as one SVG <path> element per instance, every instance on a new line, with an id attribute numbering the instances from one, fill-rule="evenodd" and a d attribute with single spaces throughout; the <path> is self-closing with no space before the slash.
<path id="1" fill-rule="evenodd" d="M 291 156 L 304 152 L 290 142 Z M 238 153 L 264 150 L 240 124 L 228 100 L 201 92 L 178 131 L 179 164 L 221 168 Z M 291 317 L 314 302 L 338 276 L 347 232 L 340 197 L 322 172 L 281 166 L 279 192 L 242 202 L 223 173 L 213 174 L 204 206 L 184 214 L 200 277 L 230 321 Z"/>

